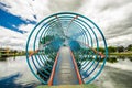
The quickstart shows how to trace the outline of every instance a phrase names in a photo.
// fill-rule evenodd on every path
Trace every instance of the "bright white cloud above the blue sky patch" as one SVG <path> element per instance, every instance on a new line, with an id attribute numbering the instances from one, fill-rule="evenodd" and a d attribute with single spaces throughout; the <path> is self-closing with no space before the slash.
<path id="1" fill-rule="evenodd" d="M 25 20 L 35 20 L 33 15 L 36 15 L 36 21 L 40 21 L 48 13 L 48 8 L 46 8 L 48 0 L 1 0 L 1 2 L 11 7 L 7 8 L 9 12 Z"/>

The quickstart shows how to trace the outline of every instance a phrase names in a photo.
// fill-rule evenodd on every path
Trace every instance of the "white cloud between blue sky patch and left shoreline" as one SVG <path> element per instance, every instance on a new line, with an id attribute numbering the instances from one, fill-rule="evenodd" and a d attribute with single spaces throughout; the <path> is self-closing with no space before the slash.
<path id="1" fill-rule="evenodd" d="M 4 29 L 0 26 L 0 46 L 15 50 L 24 50 L 26 42 L 25 34 Z M 23 48 L 24 47 L 24 48 Z"/>

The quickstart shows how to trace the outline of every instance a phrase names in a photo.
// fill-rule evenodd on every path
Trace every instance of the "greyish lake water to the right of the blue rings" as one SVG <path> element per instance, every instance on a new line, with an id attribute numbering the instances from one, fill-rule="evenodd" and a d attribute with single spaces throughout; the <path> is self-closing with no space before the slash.
<path id="1" fill-rule="evenodd" d="M 114 57 L 114 58 L 113 58 Z M 112 56 L 94 81 L 99 88 L 132 88 L 132 57 Z"/>

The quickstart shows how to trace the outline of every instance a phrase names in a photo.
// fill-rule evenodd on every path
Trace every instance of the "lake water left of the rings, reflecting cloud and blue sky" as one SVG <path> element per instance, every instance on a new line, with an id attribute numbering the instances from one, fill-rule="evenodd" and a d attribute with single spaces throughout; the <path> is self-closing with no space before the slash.
<path id="1" fill-rule="evenodd" d="M 9 57 L 6 62 L 0 62 L 0 81 L 11 85 L 13 81 L 21 85 L 38 82 L 30 72 L 25 57 Z"/>

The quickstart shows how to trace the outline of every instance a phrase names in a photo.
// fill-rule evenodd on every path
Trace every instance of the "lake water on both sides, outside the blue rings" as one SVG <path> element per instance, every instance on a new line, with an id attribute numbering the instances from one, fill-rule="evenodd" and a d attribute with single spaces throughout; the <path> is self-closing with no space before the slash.
<path id="1" fill-rule="evenodd" d="M 0 88 L 34 88 L 41 82 L 32 75 L 25 56 L 0 61 Z M 132 88 L 131 58 L 107 63 L 101 75 L 92 82 L 99 88 Z"/>

